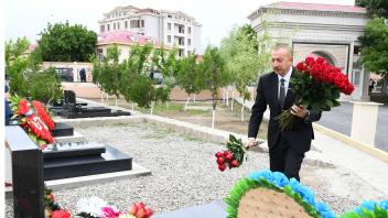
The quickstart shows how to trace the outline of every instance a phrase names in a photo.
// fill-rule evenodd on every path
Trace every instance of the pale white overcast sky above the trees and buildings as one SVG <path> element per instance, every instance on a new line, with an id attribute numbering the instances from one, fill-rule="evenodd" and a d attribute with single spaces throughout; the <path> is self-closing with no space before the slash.
<path id="1" fill-rule="evenodd" d="M 98 20 L 115 7 L 134 6 L 158 10 L 183 11 L 202 24 L 202 47 L 219 45 L 234 25 L 249 23 L 248 14 L 276 0 L 4 0 L 4 40 L 26 36 L 39 40 L 47 23 L 83 24 L 98 33 Z M 283 0 L 308 3 L 353 6 L 354 0 Z"/>

